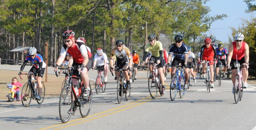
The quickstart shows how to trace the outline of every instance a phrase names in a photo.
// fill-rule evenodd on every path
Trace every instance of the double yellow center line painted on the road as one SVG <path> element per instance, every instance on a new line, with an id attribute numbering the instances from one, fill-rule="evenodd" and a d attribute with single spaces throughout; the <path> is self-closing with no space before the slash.
<path id="1" fill-rule="evenodd" d="M 108 110 L 108 111 L 104 111 L 104 112 L 101 112 L 101 113 L 97 113 L 97 114 L 93 114 L 93 115 L 90 115 L 90 116 L 87 116 L 86 118 L 90 118 L 90 117 L 93 117 L 93 116 L 98 116 L 98 115 L 100 115 L 100 114 L 104 114 L 104 113 L 108 113 L 108 112 L 110 112 L 110 111 L 114 111 L 114 110 L 116 110 L 116 109 L 120 109 L 120 108 L 122 108 L 122 107 L 126 107 L 126 106 L 129 106 L 129 105 L 133 105 L 133 104 L 135 104 L 135 103 L 138 103 L 138 102 L 140 102 L 140 101 L 144 101 L 144 100 L 146 100 L 146 99 L 148 99 L 148 98 L 150 98 L 151 96 L 148 96 L 148 97 L 145 97 L 145 98 L 143 98 L 143 99 L 140 99 L 140 100 L 138 100 L 138 101 L 135 101 L 135 102 L 133 102 L 133 103 L 129 103 L 129 104 L 126 104 L 126 105 L 122 105 L 122 106 L 120 106 L 120 107 L 116 107 L 116 108 L 114 108 L 114 109 L 110 109 L 110 110 Z M 151 99 L 152 100 L 152 99 Z M 149 100 L 150 101 L 150 100 Z M 146 101 L 147 102 L 147 101 Z M 145 102 L 145 103 L 146 103 Z M 93 104 L 92 104 L 93 105 Z M 137 105 L 134 105 L 134 107 L 135 106 L 137 106 Z M 131 106 L 132 107 L 132 106 Z M 130 107 L 128 107 L 128 108 L 130 108 Z M 126 110 L 126 109 L 122 109 L 122 111 L 123 110 Z M 112 114 L 114 114 L 114 112 L 112 113 Z M 100 116 L 99 116 L 100 117 Z M 102 116 L 103 117 L 103 116 Z M 97 118 L 97 117 L 96 117 Z M 96 119 L 95 118 L 95 119 Z M 42 128 L 42 129 L 39 129 L 39 130 L 46 130 L 46 129 L 49 129 L 49 128 L 54 128 L 54 127 L 57 127 L 57 126 L 61 126 L 61 125 L 65 125 L 65 124 L 68 124 L 68 123 L 72 123 L 72 122 L 75 122 L 75 121 L 78 121 L 78 120 L 82 120 L 82 119 L 84 119 L 84 118 L 78 118 L 78 119 L 75 119 L 75 120 L 71 120 L 71 121 L 69 121 L 69 122 L 67 122 L 67 123 L 62 123 L 62 124 L 56 124 L 56 125 L 53 125 L 53 126 L 49 126 L 49 127 L 46 127 L 46 128 Z M 94 119 L 94 118 L 93 118 Z M 79 123 L 78 123 L 79 124 Z M 72 124 L 73 125 L 73 124 Z"/>

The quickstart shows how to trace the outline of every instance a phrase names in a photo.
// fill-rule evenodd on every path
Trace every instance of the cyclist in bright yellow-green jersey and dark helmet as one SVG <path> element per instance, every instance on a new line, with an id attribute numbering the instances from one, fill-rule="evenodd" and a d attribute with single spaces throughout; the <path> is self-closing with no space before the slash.
<path id="1" fill-rule="evenodd" d="M 156 41 L 156 35 L 151 34 L 148 36 L 149 43 L 146 45 L 146 49 L 143 56 L 142 65 L 144 65 L 145 60 L 148 55 L 148 51 L 151 51 L 152 56 L 149 59 L 149 62 L 154 62 L 159 64 L 158 73 L 160 74 L 160 80 L 162 82 L 162 91 L 161 94 L 164 94 L 165 87 L 164 87 L 164 73 L 163 73 L 163 66 L 164 66 L 164 58 L 163 58 L 163 45 L 160 41 Z M 150 73 L 152 72 L 152 66 L 149 66 Z"/>

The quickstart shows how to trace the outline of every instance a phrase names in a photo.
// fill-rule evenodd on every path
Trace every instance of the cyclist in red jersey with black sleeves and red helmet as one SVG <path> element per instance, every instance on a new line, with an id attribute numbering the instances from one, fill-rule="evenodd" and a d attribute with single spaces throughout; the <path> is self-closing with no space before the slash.
<path id="1" fill-rule="evenodd" d="M 217 58 L 217 52 L 216 52 L 216 46 L 212 44 L 212 40 L 208 37 L 204 39 L 205 45 L 202 46 L 201 52 L 200 52 L 200 61 L 216 61 Z M 213 62 L 210 62 L 210 73 L 211 73 L 211 88 L 214 87 L 213 84 L 213 78 L 214 78 L 214 68 L 213 68 Z M 205 74 L 206 66 L 207 64 L 202 64 L 203 66 L 203 74 Z"/>

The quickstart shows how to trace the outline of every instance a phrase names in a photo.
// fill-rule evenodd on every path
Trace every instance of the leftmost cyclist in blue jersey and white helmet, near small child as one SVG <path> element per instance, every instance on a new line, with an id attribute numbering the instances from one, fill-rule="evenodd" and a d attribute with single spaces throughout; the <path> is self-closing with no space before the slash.
<path id="1" fill-rule="evenodd" d="M 46 67 L 46 64 L 44 63 L 43 57 L 40 54 L 36 53 L 36 48 L 35 47 L 30 47 L 28 50 L 28 55 L 26 56 L 23 64 L 20 67 L 20 72 L 18 75 L 20 75 L 26 66 L 26 64 L 30 61 L 33 66 L 29 70 L 29 73 L 37 73 L 38 76 L 36 78 L 37 83 L 38 83 L 38 96 L 36 97 L 36 100 L 41 100 L 41 92 L 42 92 L 42 78 L 44 75 L 44 70 Z"/>

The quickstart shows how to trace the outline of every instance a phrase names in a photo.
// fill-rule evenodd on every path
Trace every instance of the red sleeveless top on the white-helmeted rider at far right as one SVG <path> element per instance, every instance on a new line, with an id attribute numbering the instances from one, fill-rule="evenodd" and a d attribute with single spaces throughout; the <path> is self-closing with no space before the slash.
<path id="1" fill-rule="evenodd" d="M 245 51 L 245 44 L 246 44 L 246 42 L 244 42 L 244 41 L 242 42 L 240 50 L 236 49 L 236 42 L 235 41 L 232 44 L 233 44 L 232 59 L 236 60 L 236 55 L 237 55 L 237 60 L 241 60 L 244 57 L 244 51 Z"/>

